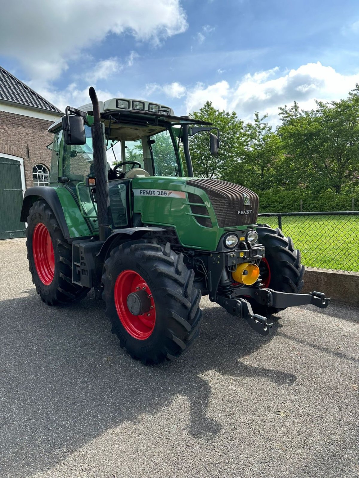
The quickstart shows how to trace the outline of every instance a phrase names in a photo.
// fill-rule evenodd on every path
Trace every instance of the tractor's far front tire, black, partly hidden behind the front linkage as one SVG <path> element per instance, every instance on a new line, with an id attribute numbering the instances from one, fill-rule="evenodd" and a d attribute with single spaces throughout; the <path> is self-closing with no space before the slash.
<path id="1" fill-rule="evenodd" d="M 290 237 L 284 237 L 279 228 L 258 224 L 258 242 L 266 248 L 266 257 L 259 263 L 260 277 L 265 287 L 279 292 L 299 293 L 303 289 L 304 266 L 301 253 L 294 249 Z M 277 314 L 281 310 L 250 301 L 253 312 L 260 315 Z"/>

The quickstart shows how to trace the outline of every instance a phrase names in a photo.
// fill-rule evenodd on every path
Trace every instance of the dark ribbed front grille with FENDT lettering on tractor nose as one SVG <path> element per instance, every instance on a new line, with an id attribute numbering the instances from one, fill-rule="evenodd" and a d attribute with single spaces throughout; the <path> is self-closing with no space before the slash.
<path id="1" fill-rule="evenodd" d="M 220 228 L 257 222 L 259 199 L 246 187 L 218 179 L 191 179 L 187 184 L 206 192 Z"/>

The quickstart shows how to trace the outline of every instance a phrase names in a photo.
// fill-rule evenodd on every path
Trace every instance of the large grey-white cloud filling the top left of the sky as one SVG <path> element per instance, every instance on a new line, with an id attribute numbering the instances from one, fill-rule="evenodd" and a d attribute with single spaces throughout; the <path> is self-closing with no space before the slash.
<path id="1" fill-rule="evenodd" d="M 179 0 L 108 0 L 104 8 L 96 0 L 14 0 L 1 11 L 0 54 L 18 59 L 30 80 L 45 84 L 109 33 L 158 44 L 187 26 Z"/>

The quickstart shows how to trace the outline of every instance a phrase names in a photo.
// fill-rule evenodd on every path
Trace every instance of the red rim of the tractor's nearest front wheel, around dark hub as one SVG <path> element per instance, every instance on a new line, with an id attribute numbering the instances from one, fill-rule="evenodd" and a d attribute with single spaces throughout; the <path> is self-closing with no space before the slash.
<path id="1" fill-rule="evenodd" d="M 127 297 L 130 293 L 139 290 L 148 293 L 151 309 L 145 314 L 133 315 L 127 307 Z M 148 338 L 155 328 L 156 307 L 150 288 L 140 274 L 135 271 L 123 271 L 119 274 L 115 283 L 114 300 L 116 311 L 126 331 L 138 340 Z"/>

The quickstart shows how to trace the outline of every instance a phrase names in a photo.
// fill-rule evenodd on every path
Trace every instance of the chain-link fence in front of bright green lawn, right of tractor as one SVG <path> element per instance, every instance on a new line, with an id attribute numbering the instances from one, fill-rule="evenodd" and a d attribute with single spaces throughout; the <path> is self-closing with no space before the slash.
<path id="1" fill-rule="evenodd" d="M 359 275 L 359 211 L 259 214 L 259 223 L 290 236 L 305 266 Z"/>

